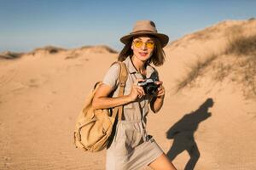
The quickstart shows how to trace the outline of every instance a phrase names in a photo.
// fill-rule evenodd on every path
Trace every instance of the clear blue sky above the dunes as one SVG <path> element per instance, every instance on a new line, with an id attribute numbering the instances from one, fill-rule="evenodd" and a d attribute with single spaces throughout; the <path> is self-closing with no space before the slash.
<path id="1" fill-rule="evenodd" d="M 101 44 L 120 50 L 119 38 L 137 20 L 153 20 L 172 42 L 223 20 L 256 17 L 255 7 L 253 0 L 0 0 L 0 52 Z"/>

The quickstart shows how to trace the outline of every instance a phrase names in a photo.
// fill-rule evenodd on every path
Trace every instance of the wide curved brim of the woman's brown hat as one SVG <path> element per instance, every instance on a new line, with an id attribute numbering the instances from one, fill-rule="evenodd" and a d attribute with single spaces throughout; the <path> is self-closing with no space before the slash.
<path id="1" fill-rule="evenodd" d="M 167 43 L 169 42 L 169 37 L 166 36 L 166 34 L 161 34 L 161 33 L 157 33 L 157 32 L 135 32 L 135 33 L 126 35 L 124 37 L 121 37 L 120 41 L 126 44 L 126 43 L 130 42 L 131 37 L 141 36 L 141 35 L 152 35 L 154 37 L 159 38 L 162 48 L 164 48 L 167 45 Z"/>

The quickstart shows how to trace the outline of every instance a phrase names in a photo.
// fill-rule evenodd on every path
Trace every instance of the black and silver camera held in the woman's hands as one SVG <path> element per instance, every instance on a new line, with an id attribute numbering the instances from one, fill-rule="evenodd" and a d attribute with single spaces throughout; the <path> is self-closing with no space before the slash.
<path id="1" fill-rule="evenodd" d="M 137 85 L 143 87 L 145 94 L 156 95 L 157 88 L 159 88 L 159 85 L 155 83 L 157 81 L 157 79 L 146 78 L 144 82 L 138 82 Z"/>

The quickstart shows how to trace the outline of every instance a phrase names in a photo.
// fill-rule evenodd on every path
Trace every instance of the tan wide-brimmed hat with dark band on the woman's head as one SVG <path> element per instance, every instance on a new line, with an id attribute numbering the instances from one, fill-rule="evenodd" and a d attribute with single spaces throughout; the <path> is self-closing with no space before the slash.
<path id="1" fill-rule="evenodd" d="M 131 33 L 124 37 L 121 37 L 120 41 L 126 44 L 130 41 L 131 37 L 139 35 L 152 35 L 159 38 L 162 44 L 162 48 L 165 47 L 169 41 L 169 37 L 166 34 L 161 34 L 157 32 L 154 22 L 151 20 L 138 20 L 135 23 L 135 26 L 133 27 Z"/>

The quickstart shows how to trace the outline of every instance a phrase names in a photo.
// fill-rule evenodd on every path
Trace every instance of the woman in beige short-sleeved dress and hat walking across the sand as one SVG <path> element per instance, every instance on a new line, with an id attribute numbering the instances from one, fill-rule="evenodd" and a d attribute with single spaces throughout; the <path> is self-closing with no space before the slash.
<path id="1" fill-rule="evenodd" d="M 157 71 L 149 64 L 159 66 L 164 63 L 162 48 L 168 40 L 165 34 L 157 32 L 151 20 L 137 21 L 133 31 L 120 38 L 125 47 L 119 54 L 119 61 L 125 63 L 128 71 L 124 96 L 117 97 L 120 68 L 114 64 L 108 69 L 92 103 L 96 109 L 124 106 L 122 120 L 117 122 L 113 141 L 107 149 L 107 170 L 137 170 L 147 165 L 153 169 L 176 169 L 146 130 L 148 105 L 154 113 L 160 111 L 163 105 L 163 82 L 154 81 L 158 87 L 154 95 L 138 85 L 146 78 L 158 79 Z"/>

